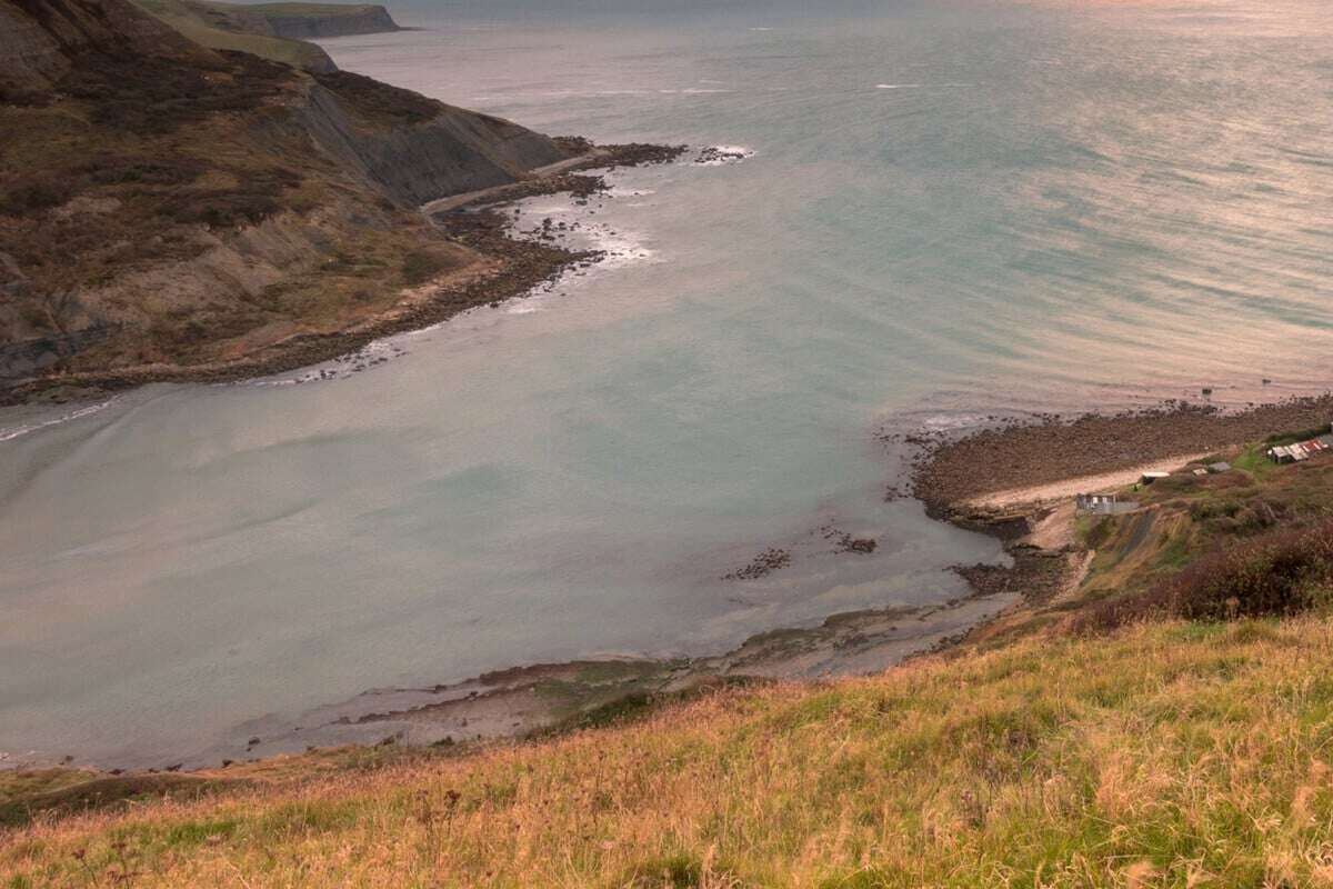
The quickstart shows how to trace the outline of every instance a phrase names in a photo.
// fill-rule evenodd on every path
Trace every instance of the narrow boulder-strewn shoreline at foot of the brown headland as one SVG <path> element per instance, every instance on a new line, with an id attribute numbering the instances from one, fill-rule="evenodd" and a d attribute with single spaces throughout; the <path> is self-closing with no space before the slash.
<path id="1" fill-rule="evenodd" d="M 476 251 L 479 261 L 421 287 L 401 291 L 399 300 L 387 311 L 339 331 L 296 333 L 228 361 L 137 365 L 17 380 L 0 389 L 0 408 L 65 404 L 152 383 L 237 383 L 287 373 L 352 355 L 376 340 L 440 324 L 468 309 L 523 297 L 569 268 L 591 265 L 601 257 L 592 251 L 576 252 L 541 240 L 513 237 L 497 208 L 524 197 L 561 192 L 587 197 L 604 191 L 605 183 L 600 176 L 580 175 L 579 171 L 665 164 L 689 151 L 685 145 L 640 143 L 597 147 L 577 137 L 559 141 L 567 149 L 581 153 L 532 171 L 531 179 L 519 183 L 440 199 L 448 203 L 447 208 L 431 211 L 429 219 L 451 240 Z"/>

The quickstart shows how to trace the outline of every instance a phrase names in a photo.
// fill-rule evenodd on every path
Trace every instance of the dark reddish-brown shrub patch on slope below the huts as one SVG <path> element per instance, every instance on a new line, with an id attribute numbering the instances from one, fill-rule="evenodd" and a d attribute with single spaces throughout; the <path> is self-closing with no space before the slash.
<path id="1" fill-rule="evenodd" d="M 1232 542 L 1138 596 L 1102 602 L 1080 621 L 1106 630 L 1140 620 L 1288 616 L 1333 601 L 1333 521 Z"/>

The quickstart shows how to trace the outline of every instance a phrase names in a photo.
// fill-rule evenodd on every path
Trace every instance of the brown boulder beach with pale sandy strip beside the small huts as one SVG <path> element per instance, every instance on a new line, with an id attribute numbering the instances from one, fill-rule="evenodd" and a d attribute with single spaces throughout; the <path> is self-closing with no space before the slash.
<path id="1" fill-rule="evenodd" d="M 1081 582 L 1092 556 L 1073 533 L 1072 493 L 1145 466 L 1174 469 L 1270 436 L 1326 429 L 1333 395 L 1290 397 L 1224 411 L 1181 401 L 1116 415 L 993 420 L 961 435 L 914 435 L 912 490 L 934 518 L 1004 542 L 1012 564 L 956 570 L 977 596 L 1012 594 L 1013 608 L 978 622 L 958 641 L 1006 632 Z M 1204 457 L 1205 460 L 1208 457 Z M 1065 482 L 1065 484 L 1061 484 Z M 1116 485 L 1106 485 L 1116 486 Z M 1058 489 L 1060 497 L 1041 492 Z"/>

